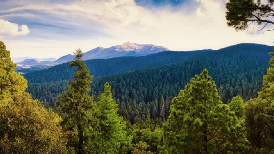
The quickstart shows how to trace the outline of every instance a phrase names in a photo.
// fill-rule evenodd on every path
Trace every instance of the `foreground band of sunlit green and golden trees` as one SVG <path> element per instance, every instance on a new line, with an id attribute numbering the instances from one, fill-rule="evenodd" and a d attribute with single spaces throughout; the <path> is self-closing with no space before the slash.
<path id="1" fill-rule="evenodd" d="M 96 99 L 89 94 L 93 76 L 81 50 L 76 50 L 69 65 L 74 76 L 57 98 L 59 115 L 24 92 L 26 80 L 15 73 L 2 42 L 0 53 L 1 153 L 273 153 L 274 57 L 255 99 L 236 96 L 223 104 L 204 69 L 171 103 L 163 96 L 160 103 L 157 99 L 151 103 L 153 111 L 159 109 L 157 115 L 152 112 L 154 117 L 147 109 L 150 103 L 133 100 L 133 108 L 128 103 L 124 111 L 132 110 L 132 119 L 130 114 L 118 114 L 120 103 L 115 100 L 119 99 L 113 99 L 115 92 L 108 82 Z M 144 110 L 139 113 L 139 109 Z"/>

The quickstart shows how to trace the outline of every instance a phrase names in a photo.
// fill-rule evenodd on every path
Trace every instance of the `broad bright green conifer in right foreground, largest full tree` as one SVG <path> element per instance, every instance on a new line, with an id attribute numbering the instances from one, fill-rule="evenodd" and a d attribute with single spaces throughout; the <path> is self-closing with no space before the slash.
<path id="1" fill-rule="evenodd" d="M 206 69 L 172 100 L 164 128 L 170 153 L 237 153 L 247 148 L 243 121 L 222 104 Z"/>

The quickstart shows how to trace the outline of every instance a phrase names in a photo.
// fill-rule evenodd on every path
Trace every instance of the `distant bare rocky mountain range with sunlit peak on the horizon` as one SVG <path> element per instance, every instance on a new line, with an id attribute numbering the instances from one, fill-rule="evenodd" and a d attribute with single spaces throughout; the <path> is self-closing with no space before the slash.
<path id="1" fill-rule="evenodd" d="M 109 48 L 103 48 L 101 46 L 89 50 L 83 54 L 83 60 L 90 59 L 108 59 L 114 57 L 124 57 L 124 56 L 146 56 L 153 53 L 158 53 L 162 51 L 169 50 L 163 46 L 156 46 L 153 44 L 137 44 L 126 42 L 121 45 L 111 46 Z M 49 68 L 51 66 L 62 64 L 65 62 L 72 61 L 74 56 L 72 54 L 68 54 L 62 56 L 58 59 L 56 58 L 32 58 L 32 57 L 21 57 L 21 58 L 13 58 L 13 62 L 17 65 L 18 69 L 23 68 Z M 25 72 L 25 71 L 23 71 Z"/>

